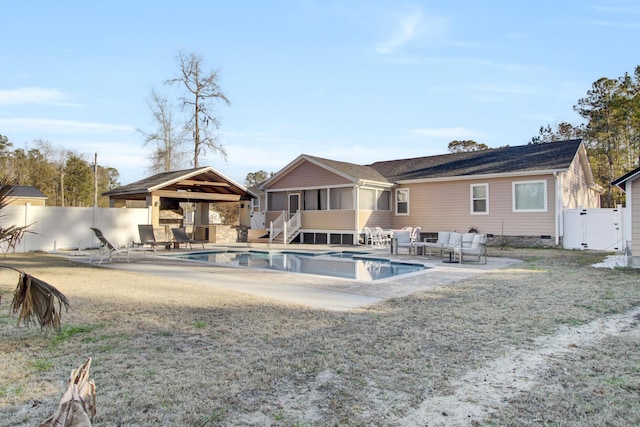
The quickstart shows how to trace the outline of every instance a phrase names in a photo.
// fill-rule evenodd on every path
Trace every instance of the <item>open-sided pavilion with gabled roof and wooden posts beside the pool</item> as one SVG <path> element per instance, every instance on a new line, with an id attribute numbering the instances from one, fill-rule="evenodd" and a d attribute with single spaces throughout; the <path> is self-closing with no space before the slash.
<path id="1" fill-rule="evenodd" d="M 239 225 L 246 230 L 251 221 L 251 199 L 257 198 L 251 191 L 209 166 L 159 173 L 102 195 L 109 197 L 111 207 L 127 207 L 127 202 L 131 201 L 144 202 L 146 207 L 151 208 L 151 224 L 154 227 L 167 225 L 163 223 L 161 211 L 175 213 L 179 210 L 180 202 L 194 203 L 194 237 L 209 241 L 215 241 L 209 224 L 210 203 L 237 203 Z M 182 218 L 179 222 L 182 223 Z"/>

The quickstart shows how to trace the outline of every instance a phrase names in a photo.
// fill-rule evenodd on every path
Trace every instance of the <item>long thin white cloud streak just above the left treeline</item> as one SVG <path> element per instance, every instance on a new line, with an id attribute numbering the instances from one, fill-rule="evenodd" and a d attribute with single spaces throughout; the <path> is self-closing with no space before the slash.
<path id="1" fill-rule="evenodd" d="M 0 126 L 8 131 L 22 132 L 38 130 L 43 133 L 78 134 L 106 132 L 135 132 L 135 127 L 107 123 L 79 122 L 76 120 L 56 120 L 30 117 L 0 119 Z"/>

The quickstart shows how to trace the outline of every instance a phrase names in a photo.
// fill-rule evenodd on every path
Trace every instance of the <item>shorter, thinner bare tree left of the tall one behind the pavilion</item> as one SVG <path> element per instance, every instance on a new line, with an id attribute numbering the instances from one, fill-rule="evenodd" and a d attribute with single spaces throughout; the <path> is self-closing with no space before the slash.
<path id="1" fill-rule="evenodd" d="M 138 132 L 144 136 L 145 147 L 154 146 L 150 155 L 151 171 L 169 172 L 180 169 L 184 160 L 184 152 L 180 151 L 180 146 L 185 143 L 185 132 L 176 131 L 171 105 L 155 90 L 151 91 L 147 105 L 157 128 L 153 132 L 145 132 L 141 129 L 138 129 Z"/>

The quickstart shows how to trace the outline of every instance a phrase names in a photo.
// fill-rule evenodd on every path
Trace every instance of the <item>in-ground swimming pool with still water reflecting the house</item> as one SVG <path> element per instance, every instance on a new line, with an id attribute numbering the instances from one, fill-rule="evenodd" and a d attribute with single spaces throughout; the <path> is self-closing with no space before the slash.
<path id="1" fill-rule="evenodd" d="M 378 280 L 425 270 L 422 264 L 392 262 L 364 252 L 206 251 L 172 255 L 218 265 L 267 268 L 356 280 Z"/>

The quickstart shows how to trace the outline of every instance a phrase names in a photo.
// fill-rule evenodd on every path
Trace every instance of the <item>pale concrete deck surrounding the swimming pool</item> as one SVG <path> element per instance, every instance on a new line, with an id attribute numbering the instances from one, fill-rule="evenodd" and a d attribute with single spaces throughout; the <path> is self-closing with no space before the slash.
<path id="1" fill-rule="evenodd" d="M 289 273 L 276 270 L 228 267 L 189 262 L 182 259 L 162 256 L 162 250 L 152 258 L 148 254 L 135 254 L 131 262 L 107 262 L 102 266 L 148 276 L 160 276 L 177 281 L 196 283 L 228 291 L 242 292 L 300 304 L 311 308 L 347 311 L 375 304 L 389 298 L 403 297 L 423 290 L 445 286 L 479 274 L 494 271 L 520 261 L 508 258 L 489 257 L 487 264 L 443 263 L 439 257 L 432 259 L 406 254 L 392 255 L 389 250 L 371 250 L 370 248 L 321 245 L 207 245 L 205 250 L 289 250 L 289 251 L 358 251 L 368 252 L 376 257 L 394 261 L 415 262 L 430 267 L 417 273 L 380 279 L 360 281 L 335 277 L 317 276 L 301 273 Z M 200 249 L 202 251 L 202 249 Z M 167 254 L 178 252 L 196 252 L 170 250 Z M 88 262 L 90 254 L 73 254 L 70 259 Z"/>

